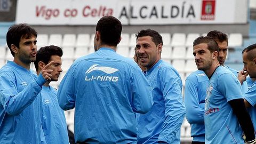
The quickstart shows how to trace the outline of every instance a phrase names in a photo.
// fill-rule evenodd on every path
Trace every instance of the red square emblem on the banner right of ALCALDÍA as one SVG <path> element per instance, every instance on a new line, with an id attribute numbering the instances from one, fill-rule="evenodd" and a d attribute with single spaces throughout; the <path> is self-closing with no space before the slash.
<path id="1" fill-rule="evenodd" d="M 201 20 L 215 19 L 215 0 L 203 0 Z"/>

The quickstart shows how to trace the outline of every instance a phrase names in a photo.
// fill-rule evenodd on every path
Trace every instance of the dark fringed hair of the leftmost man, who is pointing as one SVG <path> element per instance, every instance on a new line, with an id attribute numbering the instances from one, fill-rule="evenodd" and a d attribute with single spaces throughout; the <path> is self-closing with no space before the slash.
<path id="1" fill-rule="evenodd" d="M 21 23 L 19 25 L 13 25 L 9 28 L 7 34 L 6 34 L 6 43 L 14 57 L 14 52 L 11 49 L 11 45 L 14 44 L 15 46 L 20 48 L 20 39 L 21 38 L 31 38 L 31 37 L 37 37 L 36 30 L 34 28 L 31 28 L 25 23 Z"/>

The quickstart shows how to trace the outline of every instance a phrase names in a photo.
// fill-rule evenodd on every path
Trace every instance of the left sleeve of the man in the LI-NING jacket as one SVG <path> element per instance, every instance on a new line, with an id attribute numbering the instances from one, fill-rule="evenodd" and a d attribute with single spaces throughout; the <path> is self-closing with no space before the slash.
<path id="1" fill-rule="evenodd" d="M 75 107 L 75 93 L 74 93 L 74 67 L 70 67 L 66 75 L 60 82 L 58 90 L 59 106 L 63 110 L 73 109 Z"/>

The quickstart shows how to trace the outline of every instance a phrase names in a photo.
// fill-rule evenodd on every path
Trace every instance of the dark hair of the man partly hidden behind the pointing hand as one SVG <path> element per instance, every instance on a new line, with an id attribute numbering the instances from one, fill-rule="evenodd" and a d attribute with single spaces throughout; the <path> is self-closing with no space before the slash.
<path id="1" fill-rule="evenodd" d="M 52 55 L 62 57 L 63 51 L 59 46 L 50 45 L 41 47 L 36 53 L 36 61 L 34 62 L 36 70 L 38 70 L 38 62 L 42 61 L 45 64 L 49 63 Z"/>

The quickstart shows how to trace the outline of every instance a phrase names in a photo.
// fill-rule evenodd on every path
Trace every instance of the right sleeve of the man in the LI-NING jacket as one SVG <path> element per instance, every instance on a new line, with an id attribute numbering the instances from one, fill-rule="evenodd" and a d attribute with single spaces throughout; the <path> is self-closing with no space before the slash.
<path id="1" fill-rule="evenodd" d="M 139 68 L 134 71 L 133 75 L 132 108 L 136 113 L 146 114 L 153 106 L 152 89 Z"/>

